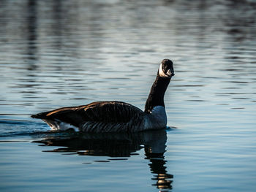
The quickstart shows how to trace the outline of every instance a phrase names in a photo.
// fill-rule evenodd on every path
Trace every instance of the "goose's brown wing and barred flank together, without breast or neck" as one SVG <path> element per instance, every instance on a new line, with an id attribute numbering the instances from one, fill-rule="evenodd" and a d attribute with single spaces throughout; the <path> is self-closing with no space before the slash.
<path id="1" fill-rule="evenodd" d="M 132 104 L 121 101 L 97 101 L 78 107 L 63 107 L 50 112 L 32 115 L 40 118 L 49 126 L 60 126 L 58 122 L 69 123 L 87 132 L 119 132 L 143 129 L 145 113 Z M 58 123 L 58 125 L 53 125 Z M 140 128 L 139 128 L 140 127 Z M 58 128 L 59 129 L 59 128 Z"/>

